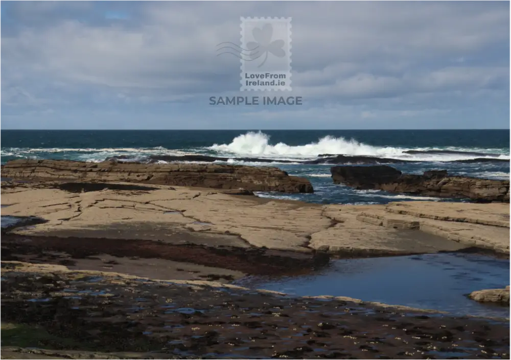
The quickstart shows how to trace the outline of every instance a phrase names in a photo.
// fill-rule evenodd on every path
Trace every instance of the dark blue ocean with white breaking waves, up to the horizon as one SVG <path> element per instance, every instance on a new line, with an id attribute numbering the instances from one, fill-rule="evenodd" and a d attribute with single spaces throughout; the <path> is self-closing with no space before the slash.
<path id="1" fill-rule="evenodd" d="M 410 152 L 411 151 L 411 152 Z M 275 199 L 323 204 L 385 204 L 391 201 L 435 200 L 420 196 L 354 190 L 334 185 L 330 164 L 301 164 L 320 154 L 366 155 L 416 160 L 390 164 L 410 174 L 446 169 L 453 175 L 510 179 L 509 130 L 2 130 L 0 164 L 12 159 L 103 161 L 124 156 L 146 161 L 149 156 L 202 154 L 229 158 L 221 163 L 276 166 L 308 178 L 314 194 L 259 193 Z M 270 159 L 271 162 L 234 158 Z M 456 160 L 474 160 L 459 162 Z M 267 160 L 268 161 L 268 160 Z M 291 161 L 291 162 L 283 162 Z M 164 162 L 159 160 L 159 162 Z"/>

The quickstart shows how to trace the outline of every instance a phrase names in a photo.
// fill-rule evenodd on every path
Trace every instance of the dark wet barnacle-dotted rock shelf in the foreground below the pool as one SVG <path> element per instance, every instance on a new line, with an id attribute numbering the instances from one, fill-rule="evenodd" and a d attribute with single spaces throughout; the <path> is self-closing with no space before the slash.
<path id="1" fill-rule="evenodd" d="M 0 318 L 96 351 L 239 357 L 509 358 L 509 323 L 206 282 L 1 264 Z M 64 344 L 34 344 L 65 348 Z M 453 355 L 455 354 L 455 355 Z M 454 356 L 454 357 L 453 357 Z"/>

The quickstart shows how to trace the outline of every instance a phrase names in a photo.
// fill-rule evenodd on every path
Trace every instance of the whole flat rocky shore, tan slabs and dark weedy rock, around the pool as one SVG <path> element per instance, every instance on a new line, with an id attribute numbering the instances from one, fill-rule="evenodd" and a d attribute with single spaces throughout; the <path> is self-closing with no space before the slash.
<path id="1" fill-rule="evenodd" d="M 121 165 L 131 166 L 104 166 Z M 138 183 L 141 173 L 129 171 L 52 170 L 53 179 L 44 181 L 40 167 L 22 169 L 4 167 L 3 174 L 22 181 L 0 182 L 0 219 L 11 224 L 0 229 L 0 329 L 6 331 L 0 341 L 55 350 L 5 348 L 2 356 L 509 356 L 505 321 L 229 284 L 246 275 L 307 274 L 333 256 L 510 257 L 509 204 L 319 205 L 258 198 L 234 184 L 169 186 L 143 176 Z"/>

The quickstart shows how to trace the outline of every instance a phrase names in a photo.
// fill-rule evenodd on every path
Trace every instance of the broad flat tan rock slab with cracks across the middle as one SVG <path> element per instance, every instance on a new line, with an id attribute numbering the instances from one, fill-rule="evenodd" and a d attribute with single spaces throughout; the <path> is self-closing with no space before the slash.
<path id="1" fill-rule="evenodd" d="M 116 183 L 117 184 L 117 183 Z M 511 253 L 509 204 L 398 202 L 318 205 L 211 189 L 112 186 L 77 193 L 58 183 L 0 186 L 0 217 L 35 217 L 13 234 L 267 248 L 345 256 L 455 251 Z M 127 184 L 132 185 L 132 184 Z M 80 184 L 80 188 L 88 188 Z M 187 234 L 193 233 L 191 237 Z"/>

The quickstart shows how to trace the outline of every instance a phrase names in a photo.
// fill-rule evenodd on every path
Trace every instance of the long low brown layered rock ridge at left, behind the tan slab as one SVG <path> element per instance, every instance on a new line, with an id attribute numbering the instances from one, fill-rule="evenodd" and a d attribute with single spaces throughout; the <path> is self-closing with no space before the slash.
<path id="1" fill-rule="evenodd" d="M 248 191 L 312 193 L 309 180 L 276 167 L 224 164 L 90 163 L 69 160 L 13 160 L 0 166 L 0 178 L 135 182 Z"/>

